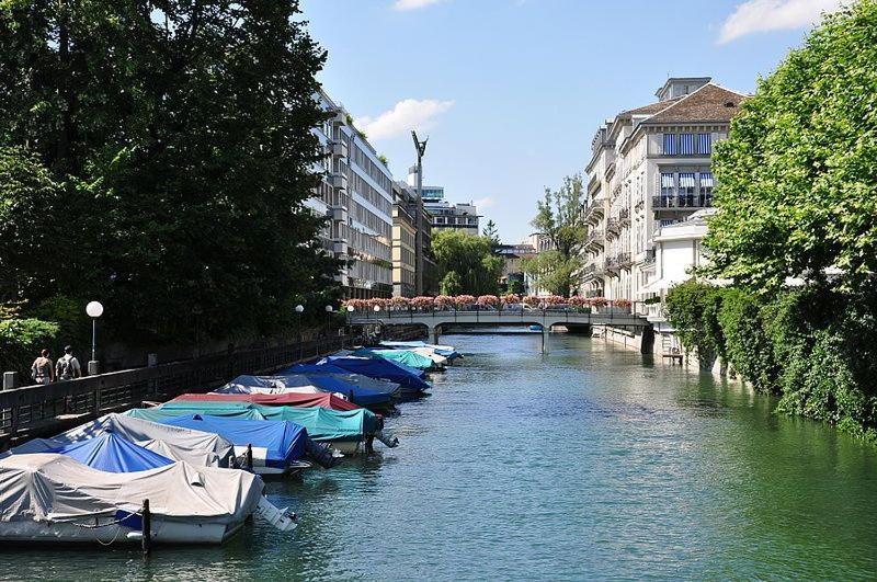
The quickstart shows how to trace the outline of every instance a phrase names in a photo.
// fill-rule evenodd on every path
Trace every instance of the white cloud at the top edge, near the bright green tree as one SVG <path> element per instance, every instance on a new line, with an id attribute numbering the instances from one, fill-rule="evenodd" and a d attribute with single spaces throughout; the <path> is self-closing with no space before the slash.
<path id="1" fill-rule="evenodd" d="M 747 34 L 800 28 L 819 22 L 823 12 L 833 12 L 842 0 L 747 0 L 721 25 L 719 43 Z"/>

